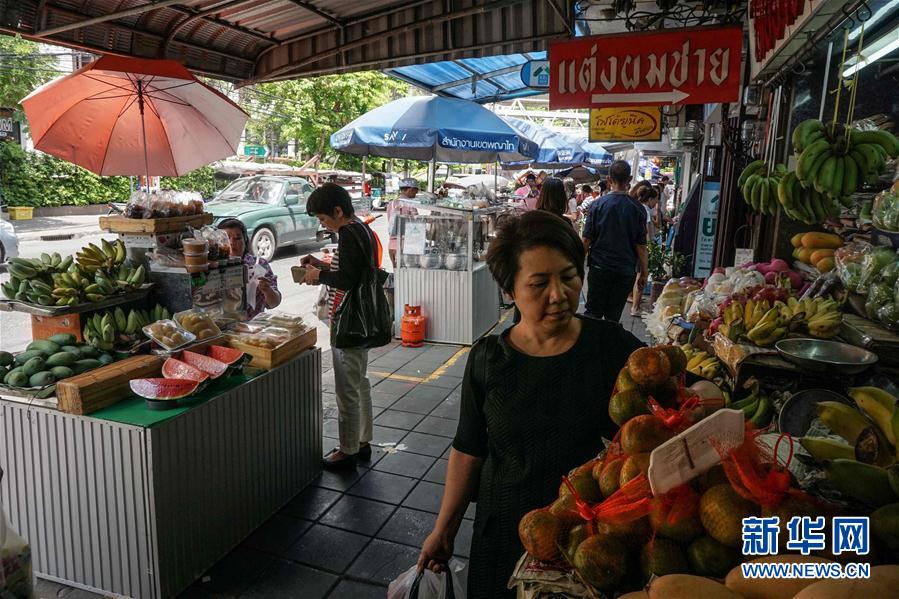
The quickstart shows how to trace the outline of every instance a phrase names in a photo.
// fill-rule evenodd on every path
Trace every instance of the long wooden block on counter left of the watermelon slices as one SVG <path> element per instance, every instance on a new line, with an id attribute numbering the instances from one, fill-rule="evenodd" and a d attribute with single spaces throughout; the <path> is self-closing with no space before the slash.
<path id="1" fill-rule="evenodd" d="M 60 381 L 59 410 L 83 416 L 118 403 L 131 395 L 128 381 L 160 376 L 164 361 L 159 356 L 133 356 Z"/>

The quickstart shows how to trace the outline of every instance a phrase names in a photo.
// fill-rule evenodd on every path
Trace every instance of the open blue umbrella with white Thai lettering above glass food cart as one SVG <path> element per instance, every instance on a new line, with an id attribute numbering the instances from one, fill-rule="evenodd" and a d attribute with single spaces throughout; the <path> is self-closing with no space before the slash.
<path id="1" fill-rule="evenodd" d="M 394 100 L 331 135 L 350 154 L 437 162 L 529 160 L 537 146 L 474 102 L 440 96 Z"/>

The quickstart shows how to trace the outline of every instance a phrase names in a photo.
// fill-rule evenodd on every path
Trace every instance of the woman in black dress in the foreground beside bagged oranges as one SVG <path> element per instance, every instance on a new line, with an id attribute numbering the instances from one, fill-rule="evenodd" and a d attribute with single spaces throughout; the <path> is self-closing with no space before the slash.
<path id="1" fill-rule="evenodd" d="M 418 562 L 443 569 L 477 500 L 470 599 L 514 596 L 506 586 L 524 552 L 519 519 L 553 501 L 562 475 L 614 436 L 615 378 L 642 345 L 617 322 L 575 315 L 584 246 L 565 219 L 532 211 L 508 221 L 487 263 L 521 322 L 471 350 L 440 515 Z"/>

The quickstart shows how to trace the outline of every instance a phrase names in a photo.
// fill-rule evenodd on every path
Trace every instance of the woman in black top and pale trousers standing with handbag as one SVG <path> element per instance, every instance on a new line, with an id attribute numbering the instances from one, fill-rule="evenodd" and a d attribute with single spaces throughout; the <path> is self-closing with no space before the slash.
<path id="1" fill-rule="evenodd" d="M 324 284 L 343 292 L 331 308 L 331 355 L 334 362 L 334 387 L 337 395 L 340 446 L 323 458 L 327 469 L 352 468 L 358 460 L 371 458 L 372 405 L 368 380 L 368 347 L 336 347 L 336 319 L 344 318 L 340 304 L 363 281 L 365 272 L 379 264 L 378 242 L 372 230 L 356 217 L 347 191 L 334 183 L 325 183 L 309 195 L 306 211 L 317 216 L 322 226 L 337 233 L 338 268 L 313 256 L 300 264 L 306 269 L 304 282 Z M 347 306 L 349 307 L 349 305 Z M 353 315 L 347 315 L 352 317 Z"/>

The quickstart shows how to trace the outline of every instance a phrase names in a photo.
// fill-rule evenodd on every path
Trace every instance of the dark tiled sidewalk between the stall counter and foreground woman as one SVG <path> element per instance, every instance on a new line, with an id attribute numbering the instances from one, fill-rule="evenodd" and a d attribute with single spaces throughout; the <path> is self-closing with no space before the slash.
<path id="1" fill-rule="evenodd" d="M 624 327 L 645 340 L 642 322 Z M 499 328 L 509 326 L 505 318 Z M 392 343 L 370 352 L 374 443 L 355 471 L 325 472 L 216 564 L 182 597 L 368 599 L 415 564 L 431 531 L 459 415 L 468 348 Z M 331 355 L 323 358 L 323 447 L 337 445 Z M 456 539 L 466 561 L 474 506 Z M 91 593 L 41 581 L 39 597 L 88 599 Z"/>

